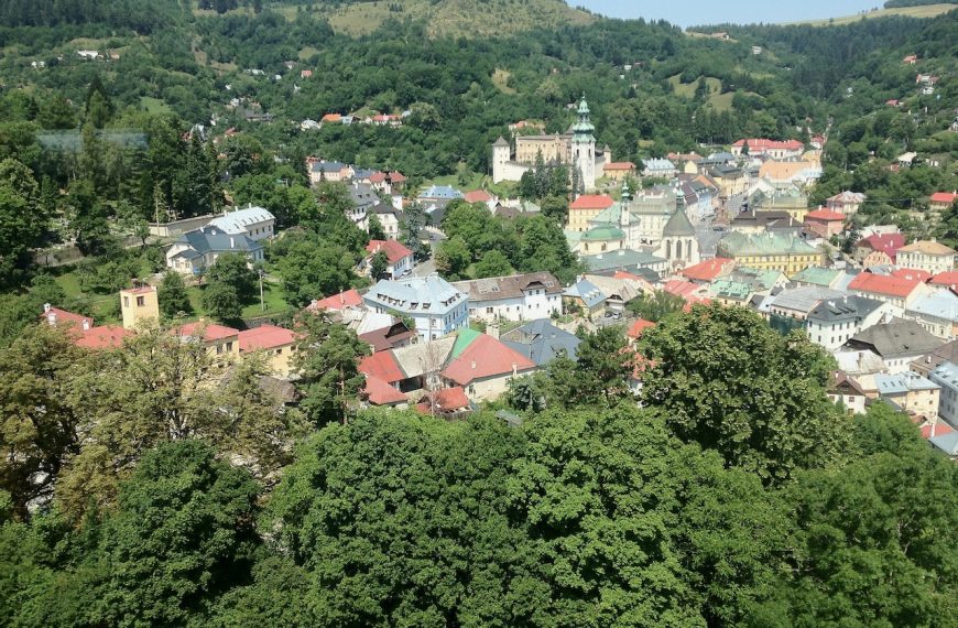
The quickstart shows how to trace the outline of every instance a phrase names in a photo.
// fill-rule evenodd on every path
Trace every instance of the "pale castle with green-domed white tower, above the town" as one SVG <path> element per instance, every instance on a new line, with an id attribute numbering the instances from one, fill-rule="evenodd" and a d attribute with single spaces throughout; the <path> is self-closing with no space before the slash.
<path id="1" fill-rule="evenodd" d="M 596 188 L 596 180 L 605 173 L 607 163 L 612 162 L 612 151 L 607 145 L 601 153 L 596 152 L 596 127 L 589 120 L 589 105 L 586 97 L 579 100 L 578 121 L 570 132 L 552 136 L 518 136 L 515 154 L 504 138 L 492 144 L 492 182 L 519 181 L 522 175 L 535 167 L 538 155 L 545 163 L 562 163 L 573 169 L 570 173 L 580 192 Z"/>

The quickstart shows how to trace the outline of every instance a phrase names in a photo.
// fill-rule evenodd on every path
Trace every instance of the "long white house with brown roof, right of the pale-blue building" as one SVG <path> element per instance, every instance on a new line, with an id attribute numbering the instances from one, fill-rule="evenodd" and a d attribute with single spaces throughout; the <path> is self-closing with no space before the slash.
<path id="1" fill-rule="evenodd" d="M 551 272 L 453 283 L 469 296 L 469 316 L 487 322 L 534 321 L 563 313 L 563 286 Z"/>

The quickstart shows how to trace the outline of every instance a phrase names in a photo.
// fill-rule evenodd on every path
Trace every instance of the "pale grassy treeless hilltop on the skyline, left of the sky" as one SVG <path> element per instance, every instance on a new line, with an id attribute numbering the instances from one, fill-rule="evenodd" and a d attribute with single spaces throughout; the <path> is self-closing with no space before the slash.
<path id="1" fill-rule="evenodd" d="M 329 19 L 334 30 L 350 35 L 370 34 L 390 18 L 425 20 L 427 32 L 434 36 L 466 37 L 585 25 L 596 20 L 590 13 L 573 9 L 563 0 L 287 0 L 266 4 L 287 14 L 313 7 Z"/>

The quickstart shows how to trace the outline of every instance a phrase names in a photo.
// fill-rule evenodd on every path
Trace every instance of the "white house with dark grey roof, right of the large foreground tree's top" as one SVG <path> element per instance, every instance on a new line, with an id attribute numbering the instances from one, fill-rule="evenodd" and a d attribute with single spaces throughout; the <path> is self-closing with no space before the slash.
<path id="1" fill-rule="evenodd" d="M 805 317 L 808 338 L 834 351 L 852 336 L 890 317 L 893 308 L 875 299 L 841 295 L 820 301 Z"/>

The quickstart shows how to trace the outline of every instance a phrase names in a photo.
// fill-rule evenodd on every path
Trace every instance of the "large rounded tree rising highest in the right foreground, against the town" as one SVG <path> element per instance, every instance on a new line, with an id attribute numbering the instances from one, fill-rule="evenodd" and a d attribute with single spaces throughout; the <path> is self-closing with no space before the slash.
<path id="1" fill-rule="evenodd" d="M 848 419 L 828 400 L 834 362 L 804 332 L 783 337 L 741 307 L 693 307 L 642 336 L 654 366 L 642 401 L 685 441 L 779 484 L 847 450 Z"/>

